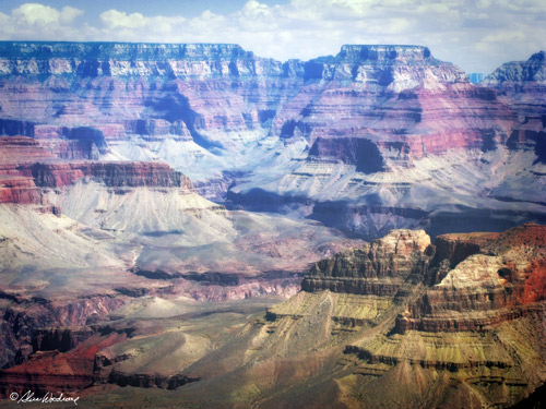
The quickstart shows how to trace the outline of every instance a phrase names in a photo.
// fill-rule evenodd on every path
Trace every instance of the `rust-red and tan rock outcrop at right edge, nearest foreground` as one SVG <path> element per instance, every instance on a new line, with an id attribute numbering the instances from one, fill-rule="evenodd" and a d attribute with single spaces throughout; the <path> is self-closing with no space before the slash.
<path id="1" fill-rule="evenodd" d="M 441 237 L 456 243 L 463 258 L 439 251 L 437 263 L 453 268 L 439 284 L 396 320 L 396 330 L 426 332 L 484 329 L 542 311 L 536 303 L 546 300 L 546 230 L 539 225 L 523 225 L 500 234 Z M 472 255 L 473 254 L 473 255 Z M 456 262 L 456 263 L 454 263 Z"/>

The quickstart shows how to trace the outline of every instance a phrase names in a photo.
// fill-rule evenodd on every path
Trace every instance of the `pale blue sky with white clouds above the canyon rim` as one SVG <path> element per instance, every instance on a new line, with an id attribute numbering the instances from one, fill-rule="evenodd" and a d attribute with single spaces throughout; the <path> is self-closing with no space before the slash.
<path id="1" fill-rule="evenodd" d="M 0 39 L 236 43 L 278 60 L 416 44 L 489 73 L 546 49 L 546 0 L 0 0 Z"/>

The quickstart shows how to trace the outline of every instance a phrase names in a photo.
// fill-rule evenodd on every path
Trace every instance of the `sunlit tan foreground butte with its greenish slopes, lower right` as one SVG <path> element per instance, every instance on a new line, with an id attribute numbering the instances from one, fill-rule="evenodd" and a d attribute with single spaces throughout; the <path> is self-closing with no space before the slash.
<path id="1" fill-rule="evenodd" d="M 296 350 L 311 360 L 343 347 L 331 373 L 342 373 L 332 382 L 346 405 L 354 394 L 371 408 L 511 407 L 546 380 L 545 234 L 527 224 L 430 244 L 422 231 L 393 231 L 316 263 L 304 291 L 270 308 L 264 342 L 287 371 Z"/>

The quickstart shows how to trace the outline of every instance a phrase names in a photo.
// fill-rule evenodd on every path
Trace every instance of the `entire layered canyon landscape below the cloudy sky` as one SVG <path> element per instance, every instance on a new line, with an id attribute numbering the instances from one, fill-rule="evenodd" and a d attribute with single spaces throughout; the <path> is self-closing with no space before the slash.
<path id="1" fill-rule="evenodd" d="M 0 407 L 544 405 L 545 51 L 0 41 Z"/>

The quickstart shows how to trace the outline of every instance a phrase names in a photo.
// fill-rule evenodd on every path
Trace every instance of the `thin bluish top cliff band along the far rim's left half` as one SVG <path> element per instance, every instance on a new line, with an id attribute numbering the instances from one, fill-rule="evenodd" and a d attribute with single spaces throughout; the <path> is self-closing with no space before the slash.
<path id="1" fill-rule="evenodd" d="M 3 41 L 0 55 L 3 75 L 212 77 L 252 75 L 270 67 L 283 73 L 276 61 L 259 59 L 235 44 Z M 222 63 L 206 67 L 207 59 Z"/>

